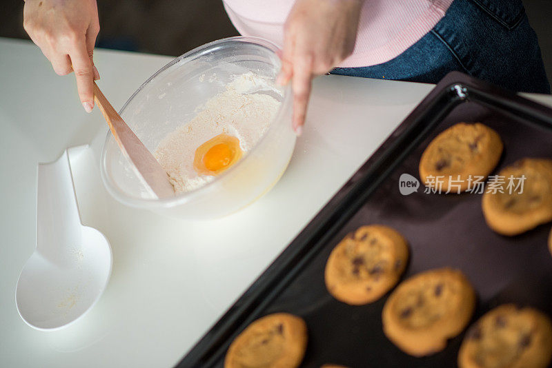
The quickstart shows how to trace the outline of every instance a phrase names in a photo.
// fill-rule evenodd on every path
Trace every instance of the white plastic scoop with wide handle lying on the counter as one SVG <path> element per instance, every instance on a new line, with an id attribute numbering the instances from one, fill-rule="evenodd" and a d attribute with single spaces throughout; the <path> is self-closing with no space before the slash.
<path id="1" fill-rule="evenodd" d="M 112 254 L 106 237 L 81 223 L 67 150 L 57 161 L 38 165 L 37 187 L 37 249 L 19 274 L 15 300 L 28 325 L 53 330 L 97 302 Z"/>

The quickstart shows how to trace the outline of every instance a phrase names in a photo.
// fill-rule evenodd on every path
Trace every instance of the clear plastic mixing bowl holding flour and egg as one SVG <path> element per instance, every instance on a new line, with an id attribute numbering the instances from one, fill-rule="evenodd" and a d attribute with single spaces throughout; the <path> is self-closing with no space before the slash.
<path id="1" fill-rule="evenodd" d="M 154 152 L 167 134 L 193 119 L 196 109 L 224 91 L 235 75 L 253 72 L 266 83 L 247 93 L 269 94 L 281 103 L 268 130 L 235 165 L 196 190 L 157 198 L 137 178 L 109 132 L 101 153 L 101 177 L 108 192 L 130 207 L 189 219 L 226 216 L 266 194 L 284 174 L 295 147 L 291 91 L 275 85 L 280 69 L 276 50 L 273 43 L 253 37 L 200 46 L 151 76 L 119 112 Z"/>

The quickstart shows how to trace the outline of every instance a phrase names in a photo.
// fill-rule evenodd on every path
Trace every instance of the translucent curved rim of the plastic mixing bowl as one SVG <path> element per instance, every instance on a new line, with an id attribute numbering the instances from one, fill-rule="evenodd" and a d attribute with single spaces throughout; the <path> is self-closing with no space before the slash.
<path id="1" fill-rule="evenodd" d="M 190 50 L 181 56 L 173 59 L 164 67 L 157 70 L 152 76 L 148 78 L 144 83 L 140 85 L 140 87 L 130 96 L 130 98 L 124 103 L 121 110 L 119 110 L 119 115 L 122 115 L 130 101 L 135 98 L 137 94 L 141 92 L 144 88 L 146 88 L 149 83 L 151 83 L 159 74 L 167 70 L 168 68 L 172 67 L 172 65 L 175 65 L 176 63 L 179 63 L 183 59 L 195 59 L 197 57 L 200 57 L 203 54 L 207 54 L 208 52 L 213 52 L 217 49 L 221 44 L 223 43 L 233 43 L 233 42 L 244 42 L 244 43 L 254 43 L 255 45 L 260 45 L 269 50 L 270 52 L 273 52 L 273 54 L 277 55 L 277 52 L 279 48 L 277 45 L 272 43 L 271 41 L 268 41 L 266 39 L 262 39 L 260 37 L 244 37 L 244 36 L 237 36 L 237 37 L 228 37 L 225 39 L 219 39 L 217 41 L 213 41 L 210 43 L 206 43 L 204 45 L 201 45 L 193 50 Z M 183 65 L 188 62 L 184 61 Z M 275 123 L 278 121 L 282 121 L 282 123 L 289 123 L 286 122 L 283 118 L 283 115 L 285 114 L 288 105 L 291 103 L 291 88 L 290 85 L 286 85 L 284 88 L 284 100 L 280 104 L 277 113 L 275 114 L 275 117 L 273 121 L 270 122 L 270 125 L 268 126 L 268 130 L 263 134 L 261 139 L 255 143 L 255 146 L 248 152 L 248 154 L 242 159 L 239 160 L 233 167 L 230 167 L 228 170 L 223 172 L 222 174 L 218 175 L 213 181 L 210 181 L 209 183 L 206 183 L 205 185 L 202 185 L 201 187 L 198 187 L 195 190 L 191 190 L 190 192 L 185 192 L 182 194 L 177 194 L 175 196 L 169 197 L 169 198 L 137 198 L 134 196 L 128 196 L 125 194 L 122 190 L 117 189 L 117 185 L 113 182 L 110 175 L 107 174 L 107 147 L 108 142 L 112 138 L 112 134 L 110 130 L 108 130 L 106 140 L 103 143 L 103 148 L 101 150 L 101 159 L 100 159 L 100 166 L 101 166 L 101 179 L 103 181 L 103 185 L 106 187 L 108 192 L 117 199 L 117 201 L 121 203 L 125 203 L 126 205 L 129 205 L 131 207 L 139 207 L 139 208 L 168 208 L 168 207 L 175 207 L 177 205 L 182 205 L 184 203 L 187 203 L 193 198 L 196 198 L 198 196 L 201 196 L 204 192 L 207 192 L 212 188 L 215 183 L 218 183 L 223 178 L 226 178 L 227 176 L 230 176 L 233 172 L 237 170 L 238 167 L 241 167 L 245 161 L 248 160 L 249 156 L 252 154 L 255 154 L 255 151 L 258 149 L 260 145 L 266 140 L 267 136 L 270 136 L 270 132 L 274 130 Z"/>

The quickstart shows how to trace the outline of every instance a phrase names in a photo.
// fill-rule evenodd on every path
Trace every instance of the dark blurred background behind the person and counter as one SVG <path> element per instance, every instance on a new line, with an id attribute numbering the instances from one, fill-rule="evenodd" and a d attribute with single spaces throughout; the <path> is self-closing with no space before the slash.
<path id="1" fill-rule="evenodd" d="M 370 0 L 367 0 L 370 1 Z M 552 0 L 524 0 L 552 83 Z M 237 36 L 222 0 L 98 0 L 97 47 L 178 56 Z M 0 37 L 28 39 L 23 0 L 0 0 Z"/>

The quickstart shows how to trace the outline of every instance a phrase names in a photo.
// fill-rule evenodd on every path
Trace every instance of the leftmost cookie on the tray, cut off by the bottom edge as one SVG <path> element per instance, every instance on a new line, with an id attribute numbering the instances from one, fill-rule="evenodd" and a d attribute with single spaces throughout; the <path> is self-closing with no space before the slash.
<path id="1" fill-rule="evenodd" d="M 307 343 L 306 324 L 293 314 L 269 314 L 251 323 L 232 342 L 225 368 L 299 367 Z"/>

